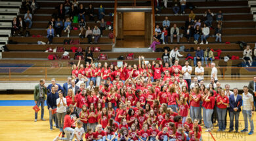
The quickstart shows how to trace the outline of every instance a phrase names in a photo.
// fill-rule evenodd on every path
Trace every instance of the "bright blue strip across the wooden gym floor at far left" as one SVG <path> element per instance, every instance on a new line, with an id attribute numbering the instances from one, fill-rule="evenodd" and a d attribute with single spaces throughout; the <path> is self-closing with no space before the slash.
<path id="1" fill-rule="evenodd" d="M 45 106 L 46 106 L 45 100 Z M 35 106 L 34 100 L 0 100 L 0 106 Z"/>

